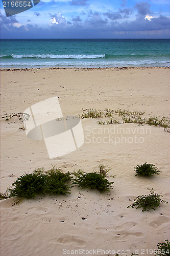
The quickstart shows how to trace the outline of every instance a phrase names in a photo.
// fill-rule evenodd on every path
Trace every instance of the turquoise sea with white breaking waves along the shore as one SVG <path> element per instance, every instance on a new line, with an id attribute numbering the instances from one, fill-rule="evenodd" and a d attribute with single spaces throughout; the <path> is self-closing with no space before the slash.
<path id="1" fill-rule="evenodd" d="M 1 39 L 1 68 L 169 67 L 170 39 Z"/>

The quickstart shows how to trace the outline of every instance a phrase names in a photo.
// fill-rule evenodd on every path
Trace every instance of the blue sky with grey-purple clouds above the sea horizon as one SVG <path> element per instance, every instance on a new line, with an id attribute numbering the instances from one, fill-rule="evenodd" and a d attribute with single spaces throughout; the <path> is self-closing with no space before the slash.
<path id="1" fill-rule="evenodd" d="M 169 0 L 41 0 L 9 17 L 0 1 L 1 38 L 170 38 Z"/>

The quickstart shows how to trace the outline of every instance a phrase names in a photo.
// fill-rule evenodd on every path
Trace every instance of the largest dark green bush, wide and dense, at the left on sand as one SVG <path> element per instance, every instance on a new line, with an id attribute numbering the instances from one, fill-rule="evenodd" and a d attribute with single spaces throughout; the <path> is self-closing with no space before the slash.
<path id="1" fill-rule="evenodd" d="M 65 195 L 69 193 L 71 181 L 70 173 L 62 173 L 60 168 L 48 170 L 44 173 L 43 168 L 38 168 L 32 174 L 24 174 L 17 178 L 11 188 L 1 195 L 1 198 L 20 197 L 35 198 L 37 195 Z"/>

